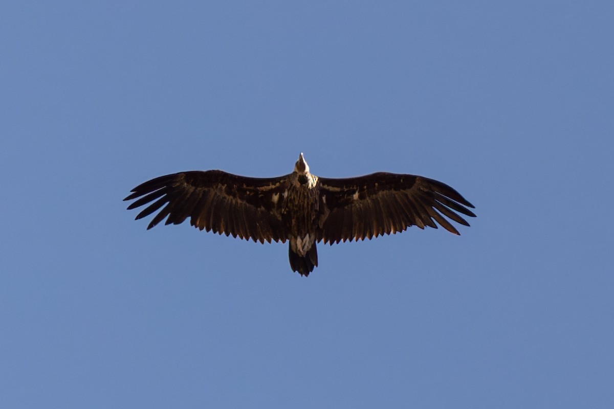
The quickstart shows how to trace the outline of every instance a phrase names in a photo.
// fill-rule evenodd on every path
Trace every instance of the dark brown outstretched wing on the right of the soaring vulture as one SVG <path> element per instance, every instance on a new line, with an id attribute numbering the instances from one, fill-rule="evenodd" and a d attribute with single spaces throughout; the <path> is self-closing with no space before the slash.
<path id="1" fill-rule="evenodd" d="M 475 217 L 473 207 L 445 183 L 415 175 L 379 172 L 355 178 L 319 178 L 321 205 L 318 240 L 338 243 L 371 239 L 410 226 L 434 227 L 459 232 L 446 218 L 469 226 L 456 212 Z"/>

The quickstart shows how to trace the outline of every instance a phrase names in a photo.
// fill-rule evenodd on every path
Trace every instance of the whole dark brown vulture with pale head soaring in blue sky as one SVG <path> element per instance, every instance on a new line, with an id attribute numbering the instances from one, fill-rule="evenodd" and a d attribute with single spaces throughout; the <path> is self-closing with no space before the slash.
<path id="1" fill-rule="evenodd" d="M 364 240 L 437 224 L 459 234 L 446 219 L 469 226 L 475 217 L 464 197 L 445 183 L 416 175 L 375 174 L 323 178 L 303 157 L 291 174 L 251 178 L 222 170 L 179 172 L 142 183 L 125 201 L 128 210 L 149 204 L 136 220 L 158 212 L 147 226 L 183 223 L 260 243 L 290 242 L 290 267 L 308 276 L 317 266 L 316 243 Z M 152 203 L 153 202 L 153 203 Z M 456 213 L 458 212 L 458 213 Z"/>

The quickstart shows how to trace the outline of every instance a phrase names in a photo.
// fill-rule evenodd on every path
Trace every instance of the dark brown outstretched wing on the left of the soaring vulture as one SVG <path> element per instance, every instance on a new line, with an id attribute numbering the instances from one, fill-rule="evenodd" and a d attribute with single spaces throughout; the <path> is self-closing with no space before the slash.
<path id="1" fill-rule="evenodd" d="M 165 224 L 179 224 L 189 217 L 190 224 L 201 230 L 261 243 L 286 242 L 287 233 L 276 210 L 284 200 L 278 191 L 283 191 L 286 184 L 287 177 L 249 178 L 221 170 L 181 172 L 142 183 L 124 200 L 140 197 L 128 206 L 129 210 L 153 202 L 136 220 L 161 208 L 147 229 L 166 216 Z"/>

